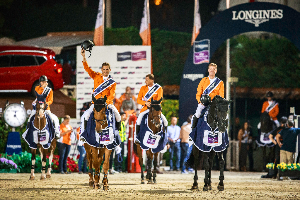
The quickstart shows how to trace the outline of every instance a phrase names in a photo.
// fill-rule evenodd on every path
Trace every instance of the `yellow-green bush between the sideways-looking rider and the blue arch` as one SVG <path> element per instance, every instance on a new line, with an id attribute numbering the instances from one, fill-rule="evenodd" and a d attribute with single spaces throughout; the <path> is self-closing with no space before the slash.
<path id="1" fill-rule="evenodd" d="M 178 118 L 179 100 L 164 99 L 161 102 L 161 112 L 165 115 L 168 120 L 168 125 L 171 124 L 171 117 Z"/>

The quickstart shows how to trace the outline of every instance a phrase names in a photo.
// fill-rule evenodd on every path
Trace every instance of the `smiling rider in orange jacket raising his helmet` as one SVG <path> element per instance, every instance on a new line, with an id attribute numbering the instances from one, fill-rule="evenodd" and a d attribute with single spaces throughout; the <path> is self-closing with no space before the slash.
<path id="1" fill-rule="evenodd" d="M 96 88 L 98 88 L 99 85 L 101 85 L 103 82 L 105 82 L 111 78 L 111 76 L 109 75 L 110 64 L 107 62 L 103 63 L 102 67 L 101 67 L 102 73 L 95 72 L 88 66 L 88 63 L 85 58 L 85 50 L 83 48 L 81 50 L 81 55 L 82 55 L 82 63 L 83 63 L 84 70 L 88 73 L 88 75 L 92 79 L 94 79 L 94 90 L 93 90 L 93 93 L 94 93 L 94 91 L 96 90 Z M 115 93 L 116 93 L 116 86 L 117 86 L 116 82 L 114 82 L 112 85 L 108 85 L 108 87 L 105 86 L 105 87 L 107 87 L 105 90 L 103 90 L 101 93 L 97 94 L 96 96 L 94 95 L 94 96 L 96 99 L 99 99 L 106 95 L 107 106 L 110 109 L 112 109 L 113 112 L 115 113 L 116 124 L 117 124 L 118 130 L 119 130 L 120 125 L 121 125 L 121 115 L 120 115 L 119 111 L 116 109 L 116 107 L 113 105 L 113 99 L 114 99 Z M 84 117 L 84 126 L 85 127 L 86 127 L 88 118 L 90 117 L 91 113 L 93 112 L 93 109 L 94 109 L 94 102 L 92 101 L 91 107 L 87 111 L 85 111 L 85 113 L 82 115 L 82 117 Z"/>

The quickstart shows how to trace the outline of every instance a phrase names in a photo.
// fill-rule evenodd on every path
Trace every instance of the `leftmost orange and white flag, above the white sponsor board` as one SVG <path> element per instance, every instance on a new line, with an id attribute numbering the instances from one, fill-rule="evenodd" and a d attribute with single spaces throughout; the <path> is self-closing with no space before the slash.
<path id="1" fill-rule="evenodd" d="M 99 0 L 99 8 L 94 32 L 94 44 L 104 45 L 104 0 Z"/>

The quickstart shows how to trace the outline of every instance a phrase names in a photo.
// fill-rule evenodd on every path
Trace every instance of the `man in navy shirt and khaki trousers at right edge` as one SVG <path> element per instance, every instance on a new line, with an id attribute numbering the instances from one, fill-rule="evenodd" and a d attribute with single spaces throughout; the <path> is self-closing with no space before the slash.
<path id="1" fill-rule="evenodd" d="M 300 133 L 300 128 L 293 128 L 294 120 L 289 119 L 287 121 L 286 129 L 283 129 L 276 135 L 277 143 L 280 147 L 280 163 L 294 163 L 293 155 L 296 151 L 296 140 Z M 282 142 L 280 137 L 282 136 Z"/>

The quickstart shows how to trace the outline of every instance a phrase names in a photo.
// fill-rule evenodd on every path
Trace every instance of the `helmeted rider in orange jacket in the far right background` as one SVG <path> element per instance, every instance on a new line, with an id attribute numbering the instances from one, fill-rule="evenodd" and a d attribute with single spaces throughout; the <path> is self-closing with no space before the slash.
<path id="1" fill-rule="evenodd" d="M 276 126 L 279 127 L 280 123 L 277 119 L 277 115 L 279 113 L 278 103 L 273 100 L 274 95 L 271 91 L 268 91 L 266 96 L 268 100 L 262 104 L 262 113 L 267 112 L 271 119 L 275 122 Z"/>

